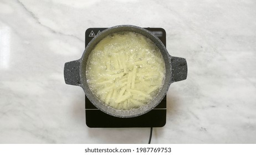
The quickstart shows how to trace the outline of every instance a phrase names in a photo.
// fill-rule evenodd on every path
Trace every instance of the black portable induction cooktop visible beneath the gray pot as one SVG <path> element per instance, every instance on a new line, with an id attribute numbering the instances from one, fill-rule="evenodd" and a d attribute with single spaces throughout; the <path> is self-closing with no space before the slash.
<path id="1" fill-rule="evenodd" d="M 89 28 L 85 31 L 85 47 L 96 35 L 107 28 Z M 162 28 L 145 28 L 166 46 L 166 32 Z M 85 95 L 85 120 L 88 127 L 163 127 L 166 123 L 166 96 L 153 110 L 131 118 L 120 118 L 100 111 Z"/>

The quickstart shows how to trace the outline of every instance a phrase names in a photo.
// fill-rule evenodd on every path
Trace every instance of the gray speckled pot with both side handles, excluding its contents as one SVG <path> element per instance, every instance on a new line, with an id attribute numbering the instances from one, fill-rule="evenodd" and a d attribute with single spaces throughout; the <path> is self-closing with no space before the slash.
<path id="1" fill-rule="evenodd" d="M 151 39 L 152 42 L 154 42 L 160 49 L 163 55 L 163 59 L 165 60 L 166 77 L 160 93 L 149 104 L 135 110 L 116 110 L 112 107 L 106 106 L 98 99 L 96 99 L 96 97 L 90 91 L 88 83 L 86 81 L 86 62 L 90 52 L 94 49 L 94 46 L 107 35 L 122 31 L 140 33 L 142 35 L 145 35 L 145 37 Z M 149 30 L 133 25 L 118 25 L 108 28 L 96 37 L 94 37 L 94 39 L 91 40 L 91 42 L 86 46 L 81 59 L 65 63 L 64 78 L 66 84 L 82 87 L 88 99 L 93 105 L 98 107 L 99 110 L 116 117 L 136 117 L 146 112 L 149 112 L 154 107 L 156 107 L 166 95 L 166 92 L 168 91 L 172 82 L 185 80 L 187 78 L 187 62 L 184 58 L 177 58 L 169 55 L 168 51 L 165 48 L 165 45 L 163 45 L 163 43 L 157 37 L 151 34 Z"/>

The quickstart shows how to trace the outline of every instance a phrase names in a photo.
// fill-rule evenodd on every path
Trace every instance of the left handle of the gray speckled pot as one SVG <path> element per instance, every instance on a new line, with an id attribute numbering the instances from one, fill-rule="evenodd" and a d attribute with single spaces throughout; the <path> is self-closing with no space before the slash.
<path id="1" fill-rule="evenodd" d="M 80 61 L 70 61 L 64 65 L 64 79 L 66 84 L 79 86 L 80 75 L 79 75 Z"/>

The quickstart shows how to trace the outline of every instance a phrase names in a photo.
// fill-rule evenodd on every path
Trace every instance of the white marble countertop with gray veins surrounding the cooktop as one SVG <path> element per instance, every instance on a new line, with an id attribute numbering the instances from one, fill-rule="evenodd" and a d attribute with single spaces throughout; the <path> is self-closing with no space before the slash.
<path id="1" fill-rule="evenodd" d="M 89 27 L 162 27 L 187 59 L 152 143 L 256 143 L 256 2 L 0 1 L 0 143 L 147 143 L 149 128 L 88 128 L 64 63 Z"/>

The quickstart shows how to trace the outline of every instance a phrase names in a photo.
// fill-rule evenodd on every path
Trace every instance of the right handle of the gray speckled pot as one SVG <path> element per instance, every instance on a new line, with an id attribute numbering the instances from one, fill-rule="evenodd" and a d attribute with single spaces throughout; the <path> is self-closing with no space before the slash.
<path id="1" fill-rule="evenodd" d="M 172 82 L 187 79 L 187 61 L 185 58 L 170 56 L 172 65 Z"/>

